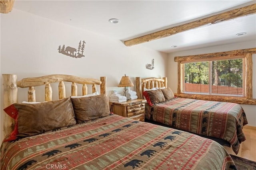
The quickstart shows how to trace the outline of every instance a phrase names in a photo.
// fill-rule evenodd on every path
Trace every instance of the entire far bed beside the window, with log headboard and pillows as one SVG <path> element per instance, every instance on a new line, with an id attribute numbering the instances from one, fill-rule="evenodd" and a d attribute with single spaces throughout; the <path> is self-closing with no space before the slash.
<path id="1" fill-rule="evenodd" d="M 245 141 L 242 128 L 248 123 L 239 104 L 176 98 L 172 90 L 165 87 L 166 77 L 136 77 L 138 98 L 147 97 L 146 121 L 210 137 L 223 145 L 231 145 L 238 154 L 240 143 Z"/>

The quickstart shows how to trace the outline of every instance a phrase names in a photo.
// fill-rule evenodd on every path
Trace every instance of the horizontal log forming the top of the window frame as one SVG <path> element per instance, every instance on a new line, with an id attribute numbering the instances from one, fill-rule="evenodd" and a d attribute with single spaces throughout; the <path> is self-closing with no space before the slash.
<path id="1" fill-rule="evenodd" d="M 225 51 L 225 52 L 217 52 L 217 53 L 209 53 L 209 54 L 199 54 L 199 55 L 188 55 L 188 56 L 180 56 L 174 57 L 174 61 L 195 61 L 200 59 L 211 59 L 218 57 L 218 59 L 225 59 L 226 57 L 235 57 L 235 56 L 244 56 L 246 54 L 256 54 L 256 48 L 252 49 L 241 49 L 234 51 Z"/>

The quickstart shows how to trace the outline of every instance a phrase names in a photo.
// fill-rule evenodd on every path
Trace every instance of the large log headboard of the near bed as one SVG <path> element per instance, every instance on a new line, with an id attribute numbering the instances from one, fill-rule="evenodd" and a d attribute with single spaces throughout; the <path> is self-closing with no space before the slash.
<path id="1" fill-rule="evenodd" d="M 100 77 L 100 80 L 94 78 L 82 78 L 78 76 L 66 74 L 52 74 L 41 77 L 23 78 L 17 80 L 15 74 L 2 74 L 3 78 L 3 107 L 6 108 L 11 104 L 18 103 L 18 87 L 28 88 L 28 102 L 36 102 L 36 92 L 34 86 L 45 86 L 45 101 L 52 101 L 52 87 L 50 83 L 59 83 L 58 94 L 59 99 L 66 98 L 64 82 L 72 82 L 71 96 L 77 96 L 77 85 L 83 84 L 82 95 L 88 94 L 87 85 L 92 85 L 92 93 L 96 92 L 96 85 L 100 85 L 100 94 L 106 95 L 106 77 Z M 7 114 L 3 117 L 3 133 L 4 137 L 10 134 L 15 126 L 15 120 Z"/>

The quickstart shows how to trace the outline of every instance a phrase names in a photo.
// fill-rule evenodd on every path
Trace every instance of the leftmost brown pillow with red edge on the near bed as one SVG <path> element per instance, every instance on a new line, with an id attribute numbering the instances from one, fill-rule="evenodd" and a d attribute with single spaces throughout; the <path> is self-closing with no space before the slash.
<path id="1" fill-rule="evenodd" d="M 38 104 L 15 103 L 4 111 L 16 122 L 14 131 L 5 141 L 76 124 L 70 98 Z"/>

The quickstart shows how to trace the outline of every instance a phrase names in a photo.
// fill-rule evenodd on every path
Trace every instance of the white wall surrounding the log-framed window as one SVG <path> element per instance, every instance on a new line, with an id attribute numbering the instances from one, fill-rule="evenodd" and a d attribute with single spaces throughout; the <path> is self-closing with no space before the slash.
<path id="1" fill-rule="evenodd" d="M 172 88 L 173 92 L 177 93 L 178 89 L 178 63 L 174 62 L 174 57 L 187 56 L 187 55 L 198 55 L 206 53 L 217 53 L 222 51 L 232 51 L 238 49 L 249 49 L 255 48 L 256 42 L 249 41 L 243 43 L 234 43 L 232 45 L 222 45 L 210 48 L 202 48 L 190 51 L 180 51 L 176 53 L 170 53 L 168 55 L 168 66 L 167 66 L 167 77 L 168 86 Z M 252 87 L 253 87 L 253 98 L 256 98 L 256 54 L 252 56 L 253 70 L 252 70 Z M 256 127 L 256 106 L 255 105 L 241 105 L 246 113 L 248 119 L 248 125 Z"/>

